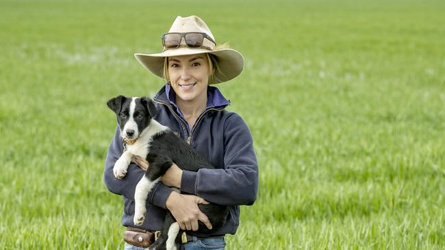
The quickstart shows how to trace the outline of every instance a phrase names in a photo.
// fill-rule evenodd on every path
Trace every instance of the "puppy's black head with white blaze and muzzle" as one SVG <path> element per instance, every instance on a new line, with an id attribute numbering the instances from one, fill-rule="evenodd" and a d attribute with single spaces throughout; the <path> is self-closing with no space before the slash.
<path id="1" fill-rule="evenodd" d="M 107 101 L 107 106 L 116 113 L 120 136 L 129 140 L 138 139 L 157 113 L 153 100 L 145 96 L 116 96 Z"/>

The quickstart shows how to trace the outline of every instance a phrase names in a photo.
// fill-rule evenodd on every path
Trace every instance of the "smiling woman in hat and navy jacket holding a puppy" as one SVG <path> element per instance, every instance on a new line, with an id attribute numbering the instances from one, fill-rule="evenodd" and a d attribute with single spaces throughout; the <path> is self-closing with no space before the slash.
<path id="1" fill-rule="evenodd" d="M 182 237 L 184 249 L 224 249 L 224 235 L 235 234 L 238 228 L 239 206 L 255 202 L 258 166 L 249 128 L 239 115 L 225 110 L 230 102 L 209 84 L 237 77 L 244 60 L 238 51 L 217 48 L 212 32 L 197 16 L 178 16 L 162 36 L 162 44 L 162 53 L 135 55 L 142 66 L 167 81 L 153 98 L 158 109 L 155 120 L 177 132 L 216 169 L 190 172 L 173 165 L 149 194 L 147 219 L 135 228 L 133 197 L 144 170 L 132 163 L 125 178 L 114 178 L 114 163 L 123 152 L 116 128 L 105 162 L 105 184 L 112 193 L 123 195 L 125 249 L 151 244 L 153 235 L 162 230 L 165 209 L 182 230 L 190 230 Z M 198 221 L 212 228 L 198 208 L 206 202 L 230 206 L 227 223 L 210 235 L 196 232 Z"/>

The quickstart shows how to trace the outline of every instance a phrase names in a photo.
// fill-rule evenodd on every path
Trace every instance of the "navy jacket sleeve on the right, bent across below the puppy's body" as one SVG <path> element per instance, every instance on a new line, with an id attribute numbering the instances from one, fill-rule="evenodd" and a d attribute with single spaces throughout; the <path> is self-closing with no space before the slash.
<path id="1" fill-rule="evenodd" d="M 225 169 L 183 171 L 181 191 L 221 205 L 252 205 L 258 191 L 258 163 L 253 139 L 240 115 L 224 125 Z"/>

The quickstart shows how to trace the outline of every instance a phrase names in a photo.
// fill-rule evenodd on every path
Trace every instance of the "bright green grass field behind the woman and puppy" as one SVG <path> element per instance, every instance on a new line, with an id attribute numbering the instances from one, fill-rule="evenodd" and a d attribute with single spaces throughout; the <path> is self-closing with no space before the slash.
<path id="1" fill-rule="evenodd" d="M 0 249 L 123 249 L 103 184 L 133 58 L 177 15 L 245 57 L 254 206 L 227 249 L 445 249 L 445 2 L 0 0 Z"/>

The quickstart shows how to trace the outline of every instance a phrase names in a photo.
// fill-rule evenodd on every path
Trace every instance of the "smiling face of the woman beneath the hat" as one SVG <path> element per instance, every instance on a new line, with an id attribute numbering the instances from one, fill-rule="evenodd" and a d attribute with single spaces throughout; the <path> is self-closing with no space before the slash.
<path id="1" fill-rule="evenodd" d="M 204 54 L 168 57 L 170 85 L 184 101 L 207 98 L 209 62 Z"/>

